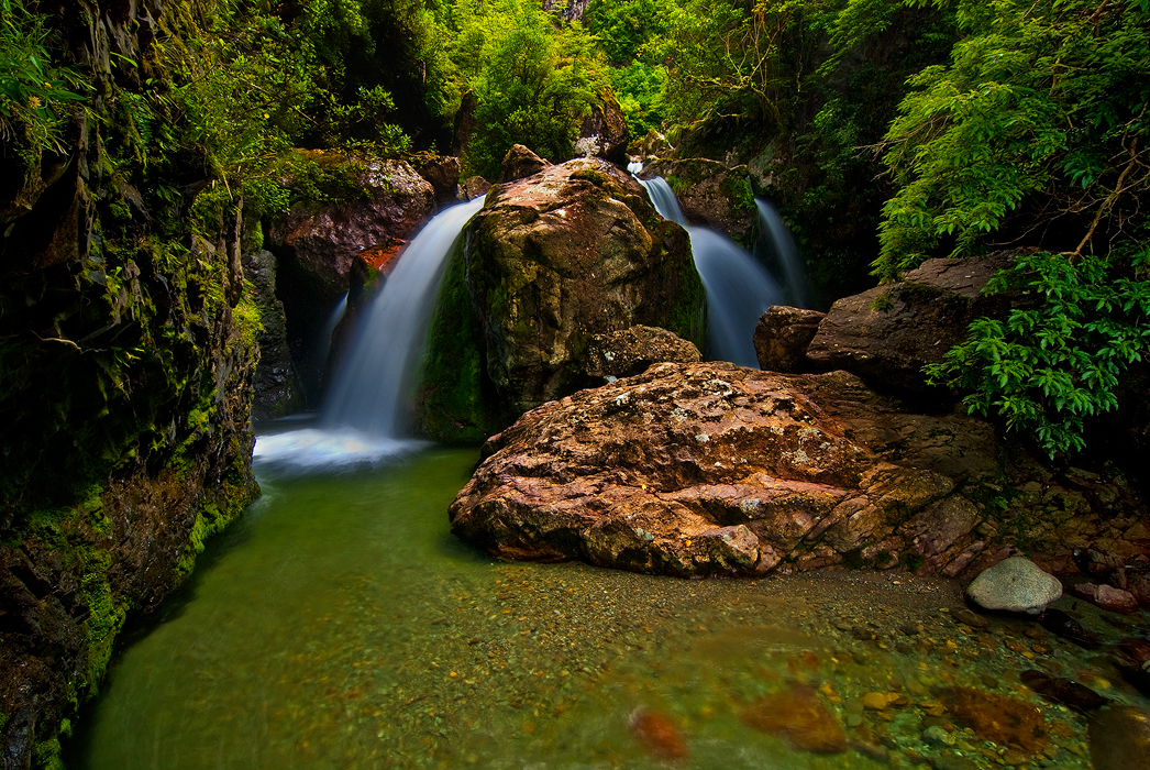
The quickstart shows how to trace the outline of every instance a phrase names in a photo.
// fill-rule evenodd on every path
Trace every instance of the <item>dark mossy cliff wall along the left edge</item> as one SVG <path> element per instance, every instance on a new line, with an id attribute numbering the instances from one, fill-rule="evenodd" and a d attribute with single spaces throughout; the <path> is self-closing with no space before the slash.
<path id="1" fill-rule="evenodd" d="M 241 201 L 170 108 L 198 6 L 51 10 L 83 99 L 54 146 L 18 114 L 0 132 L 5 768 L 60 765 L 125 618 L 256 493 Z"/>

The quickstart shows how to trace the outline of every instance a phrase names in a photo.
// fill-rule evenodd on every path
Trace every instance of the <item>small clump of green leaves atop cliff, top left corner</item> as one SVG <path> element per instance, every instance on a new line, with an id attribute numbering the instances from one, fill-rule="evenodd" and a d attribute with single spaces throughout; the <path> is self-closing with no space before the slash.
<path id="1" fill-rule="evenodd" d="M 54 62 L 47 16 L 36 13 L 34 0 L 30 5 L 0 0 L 0 139 L 18 132 L 20 152 L 38 161 L 44 152 L 64 152 L 64 121 L 80 108 L 87 86 L 75 68 Z"/>

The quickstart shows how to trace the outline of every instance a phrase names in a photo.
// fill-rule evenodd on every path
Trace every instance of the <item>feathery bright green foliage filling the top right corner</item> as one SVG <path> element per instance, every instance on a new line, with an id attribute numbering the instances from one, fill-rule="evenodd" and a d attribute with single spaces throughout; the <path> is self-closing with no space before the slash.
<path id="1" fill-rule="evenodd" d="M 911 79 L 887 135 L 899 190 L 875 272 L 894 277 L 940 247 L 975 254 L 990 234 L 1058 218 L 1056 251 L 1137 237 L 1150 190 L 1145 3 L 968 0 L 957 16 L 966 35 L 951 63 Z"/>

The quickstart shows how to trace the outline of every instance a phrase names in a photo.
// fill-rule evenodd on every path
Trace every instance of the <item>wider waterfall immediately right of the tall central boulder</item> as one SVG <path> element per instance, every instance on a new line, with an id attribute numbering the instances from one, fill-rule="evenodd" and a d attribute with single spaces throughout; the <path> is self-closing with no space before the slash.
<path id="1" fill-rule="evenodd" d="M 666 180 L 657 176 L 639 180 L 639 184 L 646 189 L 656 211 L 664 219 L 682 224 L 691 239 L 695 268 L 707 292 L 707 357 L 758 368 L 754 327 L 768 307 L 782 302 L 779 284 L 727 236 L 688 224 Z"/>

